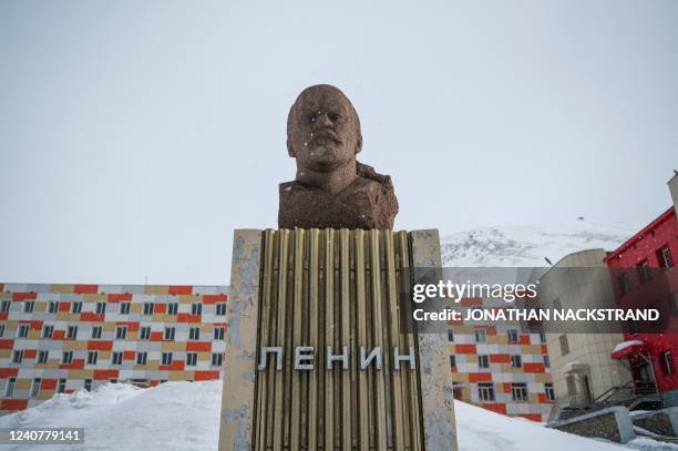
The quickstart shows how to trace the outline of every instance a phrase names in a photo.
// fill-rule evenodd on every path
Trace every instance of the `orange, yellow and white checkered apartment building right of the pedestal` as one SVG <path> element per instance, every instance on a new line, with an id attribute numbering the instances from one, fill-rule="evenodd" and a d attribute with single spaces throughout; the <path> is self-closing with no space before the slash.
<path id="1" fill-rule="evenodd" d="M 502 308 L 503 300 L 463 299 L 466 308 Z M 546 421 L 555 399 L 546 337 L 524 332 L 517 321 L 448 330 L 454 398 L 510 417 Z"/>

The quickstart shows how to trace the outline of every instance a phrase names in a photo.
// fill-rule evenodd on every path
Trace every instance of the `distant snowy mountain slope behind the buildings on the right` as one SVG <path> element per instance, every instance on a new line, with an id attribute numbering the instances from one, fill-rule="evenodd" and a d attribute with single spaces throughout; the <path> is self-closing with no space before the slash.
<path id="1" fill-rule="evenodd" d="M 616 249 L 640 227 L 585 221 L 551 226 L 483 227 L 441 238 L 443 266 L 548 266 L 573 252 Z"/>

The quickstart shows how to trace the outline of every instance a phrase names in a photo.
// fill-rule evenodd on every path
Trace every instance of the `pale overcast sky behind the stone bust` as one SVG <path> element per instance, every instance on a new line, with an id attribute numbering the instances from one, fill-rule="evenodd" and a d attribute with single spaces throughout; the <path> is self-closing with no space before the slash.
<path id="1" fill-rule="evenodd" d="M 227 284 L 330 83 L 397 228 L 649 223 L 678 168 L 678 2 L 0 1 L 0 281 Z"/>

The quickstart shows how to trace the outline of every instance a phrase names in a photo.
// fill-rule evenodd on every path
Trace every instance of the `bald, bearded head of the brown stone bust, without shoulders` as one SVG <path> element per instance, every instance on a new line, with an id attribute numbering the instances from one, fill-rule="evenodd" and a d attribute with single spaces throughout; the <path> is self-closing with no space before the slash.
<path id="1" fill-rule="evenodd" d="M 329 85 L 299 95 L 287 123 L 287 147 L 299 167 L 331 172 L 356 158 L 362 139 L 348 99 Z"/>

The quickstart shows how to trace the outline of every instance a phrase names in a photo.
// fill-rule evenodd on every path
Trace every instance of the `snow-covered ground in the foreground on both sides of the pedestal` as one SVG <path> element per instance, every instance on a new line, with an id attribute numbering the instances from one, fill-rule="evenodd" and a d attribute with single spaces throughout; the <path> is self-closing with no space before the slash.
<path id="1" fill-rule="evenodd" d="M 105 385 L 92 393 L 58 394 L 35 408 L 0 418 L 0 428 L 82 427 L 85 450 L 216 450 L 222 382 L 166 382 L 137 389 Z M 628 447 L 584 439 L 522 419 L 456 402 L 462 451 L 678 451 L 637 439 Z M 40 445 L 63 450 L 63 445 Z M 27 450 L 28 447 L 0 447 Z"/>

